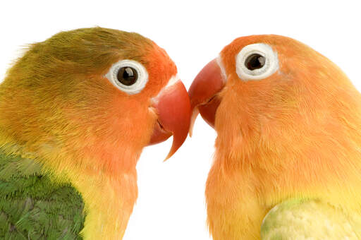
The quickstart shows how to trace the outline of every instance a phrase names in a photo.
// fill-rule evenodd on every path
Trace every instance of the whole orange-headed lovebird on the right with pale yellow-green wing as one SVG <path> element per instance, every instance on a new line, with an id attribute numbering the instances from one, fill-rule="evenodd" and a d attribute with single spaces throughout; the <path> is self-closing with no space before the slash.
<path id="1" fill-rule="evenodd" d="M 297 40 L 233 40 L 196 76 L 217 136 L 206 184 L 214 240 L 361 239 L 361 95 Z"/>

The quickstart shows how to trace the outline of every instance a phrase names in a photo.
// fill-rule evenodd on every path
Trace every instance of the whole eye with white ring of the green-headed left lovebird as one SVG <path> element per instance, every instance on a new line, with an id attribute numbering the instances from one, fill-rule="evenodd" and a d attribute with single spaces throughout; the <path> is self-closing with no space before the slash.
<path id="1" fill-rule="evenodd" d="M 139 62 L 128 59 L 113 64 L 105 77 L 116 88 L 130 95 L 142 91 L 148 81 L 147 69 Z"/>

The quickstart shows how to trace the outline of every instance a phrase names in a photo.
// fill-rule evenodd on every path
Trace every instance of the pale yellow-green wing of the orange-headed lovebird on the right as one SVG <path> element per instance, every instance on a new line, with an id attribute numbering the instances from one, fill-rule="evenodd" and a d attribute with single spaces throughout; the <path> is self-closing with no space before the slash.
<path id="1" fill-rule="evenodd" d="M 261 239 L 360 239 L 357 218 L 320 200 L 288 200 L 264 217 Z"/>

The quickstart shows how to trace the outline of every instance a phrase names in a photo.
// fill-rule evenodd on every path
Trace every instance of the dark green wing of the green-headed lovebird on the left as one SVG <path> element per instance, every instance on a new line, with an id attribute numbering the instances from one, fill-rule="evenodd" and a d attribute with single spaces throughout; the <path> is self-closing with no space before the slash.
<path id="1" fill-rule="evenodd" d="M 51 181 L 33 160 L 0 152 L 0 239 L 81 239 L 78 191 Z"/>

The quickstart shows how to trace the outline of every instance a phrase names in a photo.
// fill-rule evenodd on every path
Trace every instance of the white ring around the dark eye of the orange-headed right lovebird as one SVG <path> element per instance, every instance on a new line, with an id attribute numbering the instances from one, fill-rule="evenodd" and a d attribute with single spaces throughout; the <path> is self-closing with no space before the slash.
<path id="1" fill-rule="evenodd" d="M 264 66 L 250 70 L 245 61 L 252 54 L 259 54 L 264 57 Z M 243 47 L 235 56 L 235 71 L 241 80 L 259 80 L 271 76 L 279 69 L 279 58 L 268 44 L 255 43 Z"/>

